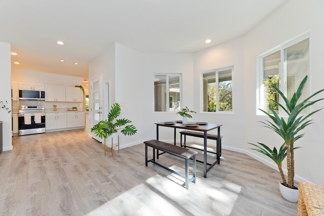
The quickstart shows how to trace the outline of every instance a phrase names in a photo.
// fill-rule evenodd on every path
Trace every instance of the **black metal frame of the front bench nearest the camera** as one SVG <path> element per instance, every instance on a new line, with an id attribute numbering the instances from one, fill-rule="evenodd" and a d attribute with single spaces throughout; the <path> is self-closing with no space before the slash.
<path id="1" fill-rule="evenodd" d="M 192 155 L 192 156 L 190 156 L 190 157 L 187 158 L 187 157 L 184 157 L 184 156 L 179 155 L 179 154 L 177 154 L 177 153 L 175 153 L 175 152 L 172 151 L 172 149 L 179 150 L 179 148 L 182 149 L 182 151 L 183 151 L 183 150 L 185 150 L 184 148 L 181 148 L 179 146 L 175 146 L 175 145 L 172 145 L 172 144 L 169 144 L 169 143 L 161 142 L 161 141 L 158 141 L 158 140 L 154 140 L 154 141 L 157 142 L 157 143 L 170 145 L 169 146 L 169 149 L 166 150 L 163 147 L 162 148 L 159 148 L 159 147 L 156 147 L 156 145 L 154 145 L 154 146 L 153 145 L 150 145 L 150 143 L 149 143 L 150 141 L 145 141 L 144 142 L 144 144 L 145 144 L 145 166 L 147 166 L 147 163 L 148 162 L 152 162 L 152 163 L 154 163 L 154 164 L 156 164 L 158 166 L 161 166 L 161 167 L 163 167 L 163 168 L 165 168 L 165 169 L 173 172 L 174 174 L 176 174 L 176 175 L 184 178 L 185 179 L 185 188 L 188 190 L 189 189 L 189 183 L 190 182 L 193 182 L 194 184 L 196 183 L 196 154 L 194 154 L 194 155 Z M 147 157 L 148 157 L 148 154 L 147 154 L 147 146 L 150 146 L 153 149 L 153 158 L 152 159 L 147 159 Z M 170 148 L 171 148 L 171 150 L 170 150 Z M 161 163 L 156 162 L 155 161 L 155 149 L 157 150 L 157 154 L 156 154 L 157 155 L 157 159 L 158 159 L 158 150 L 161 150 L 164 153 L 169 153 L 169 154 L 172 154 L 172 155 L 175 155 L 175 156 L 184 158 L 185 159 L 185 175 L 181 174 L 178 171 L 175 171 L 173 169 L 170 169 L 169 167 L 167 167 L 167 166 L 165 166 L 165 165 L 163 165 Z M 190 159 L 192 159 L 192 178 L 189 178 L 189 160 Z"/>

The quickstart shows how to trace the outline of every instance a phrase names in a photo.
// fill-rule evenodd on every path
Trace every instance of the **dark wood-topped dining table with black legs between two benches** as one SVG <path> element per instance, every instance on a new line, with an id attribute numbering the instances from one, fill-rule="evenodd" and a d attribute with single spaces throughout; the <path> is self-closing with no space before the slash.
<path id="1" fill-rule="evenodd" d="M 216 161 L 212 164 L 207 163 L 207 132 L 212 131 L 213 129 L 217 128 L 217 135 L 221 137 L 221 126 L 222 124 L 215 124 L 215 123 L 205 123 L 205 124 L 195 124 L 194 122 L 188 122 L 187 124 L 182 124 L 179 121 L 165 121 L 159 122 L 156 124 L 156 140 L 158 140 L 158 128 L 159 126 L 164 127 L 172 127 L 174 128 L 174 145 L 176 145 L 176 129 L 186 129 L 190 131 L 196 132 L 203 132 L 204 133 L 204 177 L 207 178 L 207 172 L 217 163 L 220 164 L 220 152 L 221 152 L 221 145 L 220 139 L 217 139 L 217 152 L 216 152 Z M 208 167 L 207 167 L 208 165 Z"/>

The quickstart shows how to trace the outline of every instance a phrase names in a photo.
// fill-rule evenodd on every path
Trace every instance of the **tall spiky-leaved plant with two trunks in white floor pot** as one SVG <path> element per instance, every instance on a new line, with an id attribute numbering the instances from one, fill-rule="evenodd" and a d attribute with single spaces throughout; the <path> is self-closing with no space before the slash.
<path id="1" fill-rule="evenodd" d="M 314 113 L 318 112 L 319 110 L 321 110 L 322 108 L 310 112 L 309 114 L 306 115 L 303 115 L 302 111 L 304 111 L 306 108 L 310 107 L 311 105 L 317 103 L 318 101 L 324 99 L 321 98 L 315 101 L 310 101 L 310 99 L 313 98 L 315 95 L 324 91 L 324 89 L 322 89 L 315 92 L 314 94 L 312 94 L 311 96 L 303 100 L 302 102 L 298 103 L 298 100 L 300 99 L 303 93 L 303 89 L 306 81 L 307 81 L 307 75 L 299 84 L 297 92 L 294 93 L 291 100 L 288 100 L 287 97 L 284 95 L 284 93 L 282 93 L 277 87 L 271 85 L 271 87 L 275 89 L 275 91 L 277 91 L 278 94 L 282 97 L 285 103 L 281 104 L 275 100 L 270 100 L 270 101 L 272 103 L 277 104 L 278 107 L 280 107 L 282 110 L 284 110 L 287 113 L 288 115 L 287 121 L 285 120 L 284 117 L 280 118 L 278 114 L 271 107 L 269 107 L 271 113 L 259 109 L 271 119 L 271 121 L 269 120 L 261 121 L 261 123 L 263 123 L 263 126 L 270 128 L 272 131 L 274 131 L 284 140 L 284 144 L 281 145 L 280 149 L 277 150 L 274 147 L 271 150 L 267 145 L 263 143 L 257 143 L 257 144 L 249 143 L 257 147 L 253 150 L 256 150 L 264 155 L 267 155 L 277 164 L 282 179 L 279 181 L 279 188 L 280 188 L 281 195 L 284 198 L 288 199 L 289 201 L 293 201 L 293 202 L 298 201 L 298 190 L 293 191 L 293 193 L 295 192 L 295 194 L 297 191 L 297 198 L 291 197 L 290 195 L 286 195 L 286 194 L 284 195 L 282 193 L 286 191 L 286 188 L 297 189 L 297 185 L 294 184 L 294 177 L 295 177 L 294 150 L 296 150 L 299 147 L 294 147 L 294 143 L 295 141 L 297 141 L 298 139 L 304 136 L 304 134 L 300 134 L 301 130 L 304 129 L 307 125 L 312 123 L 312 119 L 309 119 L 309 117 Z M 287 158 L 286 159 L 287 171 L 288 171 L 287 181 L 284 172 L 282 171 L 281 168 L 281 163 L 285 158 Z M 283 188 L 281 187 L 281 185 L 283 186 Z"/>

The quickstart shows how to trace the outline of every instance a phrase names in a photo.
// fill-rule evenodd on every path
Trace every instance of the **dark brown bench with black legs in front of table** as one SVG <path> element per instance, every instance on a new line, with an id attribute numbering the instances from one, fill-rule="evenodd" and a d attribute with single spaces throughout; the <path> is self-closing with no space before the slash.
<path id="1" fill-rule="evenodd" d="M 159 165 L 159 166 L 173 172 L 174 174 L 177 174 L 178 176 L 181 176 L 182 178 L 185 179 L 185 188 L 187 190 L 189 189 L 190 182 L 196 183 L 196 155 L 197 155 L 196 151 L 181 148 L 180 146 L 175 146 L 175 145 L 165 143 L 162 141 L 158 141 L 158 140 L 145 141 L 144 144 L 145 144 L 145 166 L 147 166 L 148 162 L 152 162 L 156 165 Z M 149 159 L 149 160 L 147 158 L 148 157 L 148 155 L 147 155 L 147 147 L 148 146 L 153 148 L 153 158 Z M 155 149 L 185 159 L 185 175 L 181 174 L 180 172 L 178 172 L 176 170 L 170 169 L 169 167 L 167 167 L 159 162 L 156 162 L 155 161 Z M 192 178 L 189 178 L 189 160 L 190 159 L 192 159 Z"/>

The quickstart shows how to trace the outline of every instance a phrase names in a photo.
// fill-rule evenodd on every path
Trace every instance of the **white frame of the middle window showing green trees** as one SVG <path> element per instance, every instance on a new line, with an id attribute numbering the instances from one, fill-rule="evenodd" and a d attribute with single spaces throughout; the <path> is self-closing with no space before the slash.
<path id="1" fill-rule="evenodd" d="M 231 70 L 231 76 L 232 76 L 232 111 L 224 111 L 224 110 L 219 110 L 219 93 L 218 93 L 218 73 L 224 70 Z M 215 78 L 216 78 L 216 112 L 206 112 L 204 111 L 204 77 L 203 75 L 205 73 L 210 73 L 210 72 L 215 72 Z M 200 112 L 201 113 L 234 113 L 234 81 L 233 81 L 233 74 L 234 74 L 234 65 L 231 66 L 225 66 L 225 67 L 220 67 L 220 68 L 215 68 L 211 70 L 205 70 L 200 72 Z"/>

